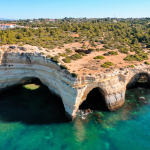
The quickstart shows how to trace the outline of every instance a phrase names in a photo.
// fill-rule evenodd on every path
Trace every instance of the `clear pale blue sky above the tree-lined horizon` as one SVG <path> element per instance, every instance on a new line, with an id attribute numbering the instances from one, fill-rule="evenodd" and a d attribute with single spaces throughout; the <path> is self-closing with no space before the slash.
<path id="1" fill-rule="evenodd" d="M 0 0 L 0 18 L 142 18 L 150 0 Z"/>

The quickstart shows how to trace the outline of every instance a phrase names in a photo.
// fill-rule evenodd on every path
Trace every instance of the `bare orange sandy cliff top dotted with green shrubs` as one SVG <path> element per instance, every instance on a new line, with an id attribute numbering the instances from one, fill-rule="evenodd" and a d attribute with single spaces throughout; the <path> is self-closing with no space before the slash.
<path id="1" fill-rule="evenodd" d="M 127 54 L 120 52 L 119 49 L 106 49 L 104 44 L 98 44 L 96 48 L 90 47 L 89 42 L 84 42 L 86 47 L 83 48 L 83 43 L 71 43 L 64 44 L 63 48 L 56 47 L 54 49 L 47 49 L 43 47 L 31 46 L 31 45 L 3 45 L 1 50 L 11 52 L 24 52 L 24 53 L 36 53 L 45 55 L 47 58 L 55 58 L 58 60 L 58 64 L 65 65 L 70 73 L 78 74 L 79 76 L 93 75 L 106 70 L 114 70 L 116 68 L 134 67 L 138 64 L 144 64 L 149 62 L 150 50 L 142 47 L 143 58 L 136 58 L 136 52 L 129 51 Z M 142 55 L 142 54 L 141 54 Z M 98 56 L 98 57 L 97 57 Z M 130 59 L 133 56 L 134 59 L 130 61 L 124 60 Z M 141 57 L 141 58 L 142 58 Z"/>

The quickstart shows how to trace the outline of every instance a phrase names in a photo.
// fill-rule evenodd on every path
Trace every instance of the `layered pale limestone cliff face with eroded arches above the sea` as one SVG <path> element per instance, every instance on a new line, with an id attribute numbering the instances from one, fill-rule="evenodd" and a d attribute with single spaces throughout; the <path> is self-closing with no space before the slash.
<path id="1" fill-rule="evenodd" d="M 0 91 L 36 77 L 62 98 L 66 116 L 70 120 L 74 119 L 80 104 L 93 88 L 99 87 L 108 109 L 113 111 L 124 104 L 128 83 L 128 86 L 134 85 L 141 73 L 150 79 L 150 67 L 147 65 L 73 78 L 67 70 L 61 69 L 58 64 L 38 52 L 24 51 L 24 48 L 11 52 L 8 49 L 9 47 L 3 47 L 0 50 Z"/>

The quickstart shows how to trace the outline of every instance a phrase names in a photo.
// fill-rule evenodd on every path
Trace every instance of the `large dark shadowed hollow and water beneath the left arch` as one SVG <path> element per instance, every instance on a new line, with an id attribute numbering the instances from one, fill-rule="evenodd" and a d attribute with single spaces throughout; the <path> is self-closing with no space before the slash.
<path id="1" fill-rule="evenodd" d="M 52 94 L 38 79 L 0 94 L 0 120 L 25 124 L 67 122 L 61 98 Z"/>

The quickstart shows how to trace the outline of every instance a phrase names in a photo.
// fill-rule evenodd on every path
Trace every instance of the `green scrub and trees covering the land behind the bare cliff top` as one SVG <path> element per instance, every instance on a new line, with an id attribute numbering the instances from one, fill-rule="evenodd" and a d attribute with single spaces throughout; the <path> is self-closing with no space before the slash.
<path id="1" fill-rule="evenodd" d="M 41 23 L 39 24 L 39 22 Z M 55 22 L 39 19 L 38 21 L 33 20 L 33 23 L 29 22 L 29 20 L 18 20 L 16 22 L 17 25 L 29 26 L 29 28 L 0 30 L 0 45 L 18 44 L 23 46 L 30 44 L 37 46 L 41 55 L 46 55 L 46 58 L 51 58 L 51 61 L 55 63 L 60 62 L 60 56 L 64 57 L 62 61 L 65 63 L 71 63 L 72 60 L 82 59 L 86 54 L 81 52 L 72 55 L 71 53 L 74 52 L 74 49 L 79 47 L 73 47 L 73 50 L 71 50 L 71 48 L 67 48 L 64 44 L 79 42 L 82 43 L 82 48 L 84 50 L 88 49 L 89 52 L 94 51 L 98 53 L 100 51 L 99 53 L 102 53 L 104 51 L 104 56 L 124 53 L 126 54 L 125 61 L 141 62 L 145 60 L 145 64 L 149 65 L 150 63 L 146 61 L 149 59 L 148 53 L 150 52 L 148 51 L 150 50 L 149 22 L 150 18 L 139 20 L 120 18 L 117 19 L 117 23 L 114 23 L 111 18 L 94 18 L 89 20 L 87 18 L 74 19 L 66 17 L 55 19 Z M 34 29 L 34 27 L 38 28 Z M 74 37 L 72 34 L 79 34 L 79 37 Z M 100 48 L 99 45 L 103 46 L 103 48 Z M 56 47 L 67 49 L 65 49 L 65 53 L 59 53 L 58 56 L 53 57 L 47 55 L 49 53 L 45 54 L 42 52 L 44 49 L 46 49 L 46 52 L 50 52 L 50 50 Z M 115 51 L 114 49 L 118 50 Z M 145 49 L 148 53 L 145 52 Z M 93 57 L 94 59 L 105 59 L 104 56 L 100 55 Z M 101 66 L 108 68 L 111 65 L 111 62 L 105 62 Z"/>

